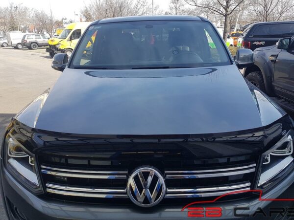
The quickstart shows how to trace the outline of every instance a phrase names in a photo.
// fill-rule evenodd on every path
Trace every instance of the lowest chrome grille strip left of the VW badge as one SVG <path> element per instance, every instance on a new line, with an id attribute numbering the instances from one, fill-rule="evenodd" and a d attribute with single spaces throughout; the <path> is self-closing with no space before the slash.
<path id="1" fill-rule="evenodd" d="M 99 193 L 76 193 L 70 191 L 61 191 L 47 189 L 48 193 L 54 193 L 65 196 L 75 196 L 75 197 L 90 197 L 90 198 L 128 198 L 126 194 L 99 194 Z"/>

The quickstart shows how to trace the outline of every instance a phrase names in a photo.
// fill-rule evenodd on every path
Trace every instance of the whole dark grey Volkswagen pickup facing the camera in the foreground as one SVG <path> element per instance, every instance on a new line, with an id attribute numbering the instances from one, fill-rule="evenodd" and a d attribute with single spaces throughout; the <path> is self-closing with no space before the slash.
<path id="1" fill-rule="evenodd" d="M 253 61 L 249 49 L 234 61 L 201 17 L 93 22 L 4 132 L 9 217 L 185 219 L 187 204 L 219 196 L 224 219 L 277 207 L 293 196 L 294 122 L 241 75 Z"/>

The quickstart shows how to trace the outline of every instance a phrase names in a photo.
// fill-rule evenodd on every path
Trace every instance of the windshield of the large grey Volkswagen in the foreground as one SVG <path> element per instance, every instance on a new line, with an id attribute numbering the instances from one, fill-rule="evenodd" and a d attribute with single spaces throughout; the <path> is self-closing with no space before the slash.
<path id="1" fill-rule="evenodd" d="M 144 21 L 89 27 L 73 68 L 134 69 L 229 65 L 209 22 Z"/>

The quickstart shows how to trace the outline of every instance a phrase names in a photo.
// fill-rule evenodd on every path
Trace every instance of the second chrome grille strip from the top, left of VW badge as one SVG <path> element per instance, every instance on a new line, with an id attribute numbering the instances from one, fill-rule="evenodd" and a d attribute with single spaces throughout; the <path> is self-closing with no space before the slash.
<path id="1" fill-rule="evenodd" d="M 69 176 L 69 177 L 77 177 L 77 178 L 126 179 L 126 175 L 62 173 L 62 172 L 54 172 L 54 171 L 49 171 L 49 170 L 44 170 L 44 169 L 42 169 L 41 172 L 43 174 L 49 174 L 49 175 L 54 175 L 54 176 Z"/>

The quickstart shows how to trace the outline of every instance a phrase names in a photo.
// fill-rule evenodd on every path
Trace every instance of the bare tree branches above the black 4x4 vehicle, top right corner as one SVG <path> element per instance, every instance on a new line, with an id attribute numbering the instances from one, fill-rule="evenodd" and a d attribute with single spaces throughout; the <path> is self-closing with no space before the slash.
<path id="1" fill-rule="evenodd" d="M 248 17 L 254 22 L 276 22 L 294 18 L 294 0 L 254 0 L 248 9 Z"/>

